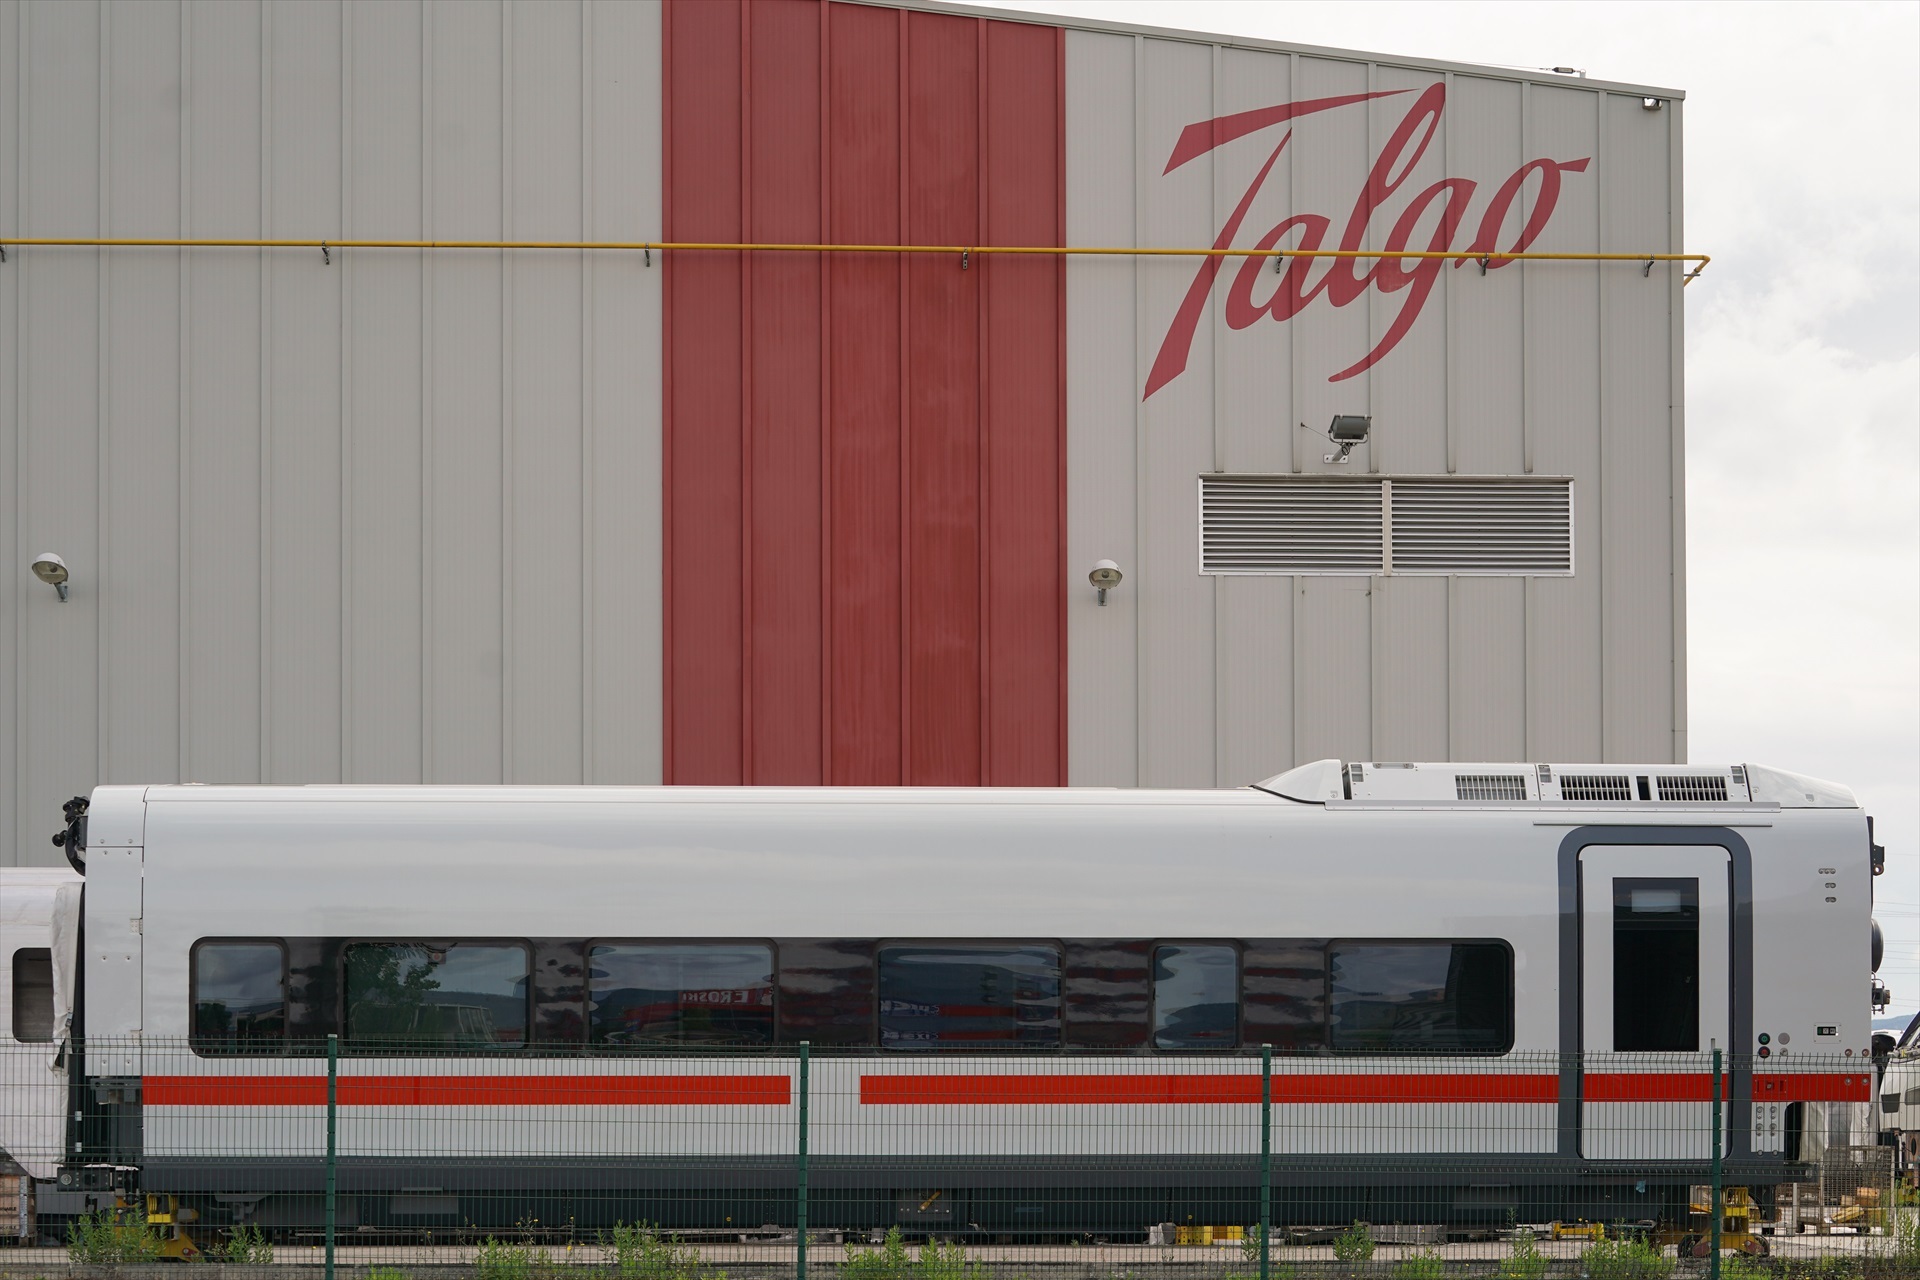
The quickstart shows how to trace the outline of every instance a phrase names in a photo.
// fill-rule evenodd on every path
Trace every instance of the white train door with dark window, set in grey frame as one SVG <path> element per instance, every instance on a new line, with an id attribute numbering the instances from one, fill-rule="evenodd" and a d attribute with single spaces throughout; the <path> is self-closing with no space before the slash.
<path id="1" fill-rule="evenodd" d="M 1730 858 L 1716 844 L 1580 852 L 1580 1153 L 1707 1159 L 1709 1050 L 1728 1048 Z"/>

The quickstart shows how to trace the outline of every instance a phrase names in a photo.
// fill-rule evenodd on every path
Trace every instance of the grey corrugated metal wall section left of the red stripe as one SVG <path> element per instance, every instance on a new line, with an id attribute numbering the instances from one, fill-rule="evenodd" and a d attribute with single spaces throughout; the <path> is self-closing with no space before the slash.
<path id="1" fill-rule="evenodd" d="M 655 236 L 659 61 L 653 6 L 0 0 L 0 221 Z M 108 781 L 659 781 L 659 276 L 10 253 L 0 862 Z"/>

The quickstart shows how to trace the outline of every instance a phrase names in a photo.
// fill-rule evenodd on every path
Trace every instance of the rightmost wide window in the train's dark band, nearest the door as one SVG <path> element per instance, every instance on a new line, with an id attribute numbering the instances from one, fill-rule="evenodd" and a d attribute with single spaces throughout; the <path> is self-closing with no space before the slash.
<path id="1" fill-rule="evenodd" d="M 1334 942 L 1334 1050 L 1503 1054 L 1513 1046 L 1513 954 L 1501 942 Z"/>

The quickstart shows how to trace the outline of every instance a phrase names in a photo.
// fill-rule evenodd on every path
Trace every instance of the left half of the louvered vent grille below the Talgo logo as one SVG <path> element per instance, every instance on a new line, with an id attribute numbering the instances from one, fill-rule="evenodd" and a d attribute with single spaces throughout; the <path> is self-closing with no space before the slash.
<path id="1" fill-rule="evenodd" d="M 1202 574 L 1379 574 L 1380 486 L 1206 478 Z"/>

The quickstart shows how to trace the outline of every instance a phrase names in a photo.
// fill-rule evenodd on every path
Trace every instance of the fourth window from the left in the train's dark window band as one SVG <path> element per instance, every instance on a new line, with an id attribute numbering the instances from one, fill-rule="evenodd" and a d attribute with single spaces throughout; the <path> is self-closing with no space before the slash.
<path id="1" fill-rule="evenodd" d="M 879 1044 L 1060 1044 L 1060 952 L 1043 944 L 881 946 Z"/>

